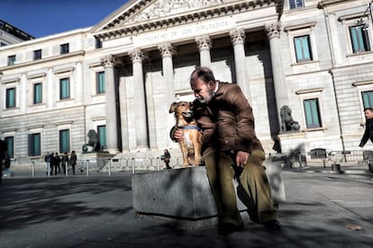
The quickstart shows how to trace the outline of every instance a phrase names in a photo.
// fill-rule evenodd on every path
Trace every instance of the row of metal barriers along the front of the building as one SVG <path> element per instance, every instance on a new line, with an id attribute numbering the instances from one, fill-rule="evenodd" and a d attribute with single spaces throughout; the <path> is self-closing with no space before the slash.
<path id="1" fill-rule="evenodd" d="M 307 166 L 323 165 L 334 167 L 345 166 L 346 164 L 364 165 L 373 170 L 373 151 L 368 150 L 350 150 L 350 151 L 327 151 L 323 148 L 315 148 L 307 153 L 268 153 L 265 164 L 281 164 L 282 167 L 303 171 Z M 31 174 L 35 176 L 35 164 L 38 160 L 31 160 Z M 183 165 L 182 156 L 173 156 L 170 160 L 170 165 L 173 168 L 181 168 Z M 338 166 L 337 166 L 338 165 Z M 62 165 L 63 166 L 63 165 Z M 71 166 L 67 166 L 65 176 L 70 176 L 68 173 Z M 45 165 L 43 166 L 45 168 Z M 47 176 L 50 176 L 51 169 L 47 169 Z M 97 159 L 80 159 L 77 161 L 77 171 L 85 173 L 86 176 L 91 176 L 92 173 L 107 173 L 112 176 L 115 172 L 151 172 L 166 169 L 166 165 L 157 157 L 129 157 L 129 158 L 97 158 Z M 43 169 L 43 174 L 45 171 Z"/>

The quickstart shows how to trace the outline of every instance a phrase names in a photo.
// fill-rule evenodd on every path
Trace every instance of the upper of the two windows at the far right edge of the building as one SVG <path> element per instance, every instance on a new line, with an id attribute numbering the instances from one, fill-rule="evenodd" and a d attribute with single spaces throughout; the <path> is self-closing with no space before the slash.
<path id="1" fill-rule="evenodd" d="M 370 50 L 366 25 L 351 26 L 350 39 L 353 53 Z"/>

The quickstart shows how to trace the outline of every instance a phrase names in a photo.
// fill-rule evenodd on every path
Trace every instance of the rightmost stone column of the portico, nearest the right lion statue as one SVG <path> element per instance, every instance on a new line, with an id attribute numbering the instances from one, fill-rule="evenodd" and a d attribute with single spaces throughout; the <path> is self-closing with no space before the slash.
<path id="1" fill-rule="evenodd" d="M 287 86 L 285 83 L 285 75 L 283 71 L 281 59 L 281 45 L 280 45 L 280 23 L 272 23 L 266 25 L 266 32 L 269 40 L 270 58 L 272 62 L 272 76 L 275 88 L 275 96 L 277 102 L 277 116 L 279 123 L 280 109 L 282 106 L 288 106 Z"/>

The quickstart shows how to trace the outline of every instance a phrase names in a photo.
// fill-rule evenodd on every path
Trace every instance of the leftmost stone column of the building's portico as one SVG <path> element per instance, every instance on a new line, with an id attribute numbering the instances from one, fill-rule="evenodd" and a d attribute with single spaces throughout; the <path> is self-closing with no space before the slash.
<path id="1" fill-rule="evenodd" d="M 106 144 L 109 153 L 118 152 L 117 114 L 115 104 L 115 58 L 112 55 L 101 58 L 105 67 L 105 103 L 106 103 Z"/>

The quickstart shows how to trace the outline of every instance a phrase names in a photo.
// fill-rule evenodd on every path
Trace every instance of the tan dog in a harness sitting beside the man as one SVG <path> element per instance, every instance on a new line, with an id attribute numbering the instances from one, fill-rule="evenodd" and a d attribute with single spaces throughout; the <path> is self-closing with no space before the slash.
<path id="1" fill-rule="evenodd" d="M 180 140 L 184 166 L 198 166 L 201 163 L 202 132 L 193 118 L 193 102 L 172 102 L 169 113 L 175 112 L 176 127 L 183 130 Z"/>

